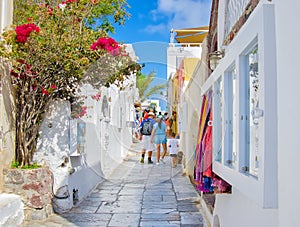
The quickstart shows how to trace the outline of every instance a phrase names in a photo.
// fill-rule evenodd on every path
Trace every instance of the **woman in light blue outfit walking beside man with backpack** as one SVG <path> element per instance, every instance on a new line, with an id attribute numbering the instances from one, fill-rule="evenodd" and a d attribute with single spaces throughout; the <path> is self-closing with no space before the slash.
<path id="1" fill-rule="evenodd" d="M 163 117 L 160 115 L 157 118 L 157 123 L 153 127 L 151 134 L 151 141 L 154 142 L 156 147 L 156 164 L 159 165 L 160 161 L 164 163 L 164 157 L 167 154 L 167 126 L 163 121 Z M 163 148 L 163 153 L 160 158 L 160 146 Z"/>

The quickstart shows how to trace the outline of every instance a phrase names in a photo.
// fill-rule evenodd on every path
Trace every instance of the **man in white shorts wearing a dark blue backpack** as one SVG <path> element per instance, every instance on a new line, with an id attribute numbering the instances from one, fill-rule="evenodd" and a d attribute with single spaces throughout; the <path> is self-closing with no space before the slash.
<path id="1" fill-rule="evenodd" d="M 148 113 L 148 117 L 144 118 L 140 125 L 140 140 L 142 140 L 142 157 L 140 162 L 144 163 L 145 153 L 148 151 L 148 164 L 153 164 L 151 160 L 152 151 L 154 150 L 154 144 L 151 143 L 151 133 L 153 125 L 155 124 L 154 118 L 155 114 L 153 112 Z"/>

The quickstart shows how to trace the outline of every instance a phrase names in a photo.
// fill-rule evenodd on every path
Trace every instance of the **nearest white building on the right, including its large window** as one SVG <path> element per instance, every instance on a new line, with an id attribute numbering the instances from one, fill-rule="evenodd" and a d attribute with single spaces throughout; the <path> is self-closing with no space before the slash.
<path id="1" fill-rule="evenodd" d="M 223 52 L 201 86 L 213 91 L 213 227 L 299 226 L 300 2 L 213 1 Z"/>

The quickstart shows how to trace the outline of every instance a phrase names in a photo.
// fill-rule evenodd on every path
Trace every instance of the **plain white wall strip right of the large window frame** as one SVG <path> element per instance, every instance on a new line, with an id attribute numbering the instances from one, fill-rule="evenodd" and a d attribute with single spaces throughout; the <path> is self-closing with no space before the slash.
<path id="1" fill-rule="evenodd" d="M 279 226 L 299 226 L 300 2 L 274 0 L 278 92 Z"/>

